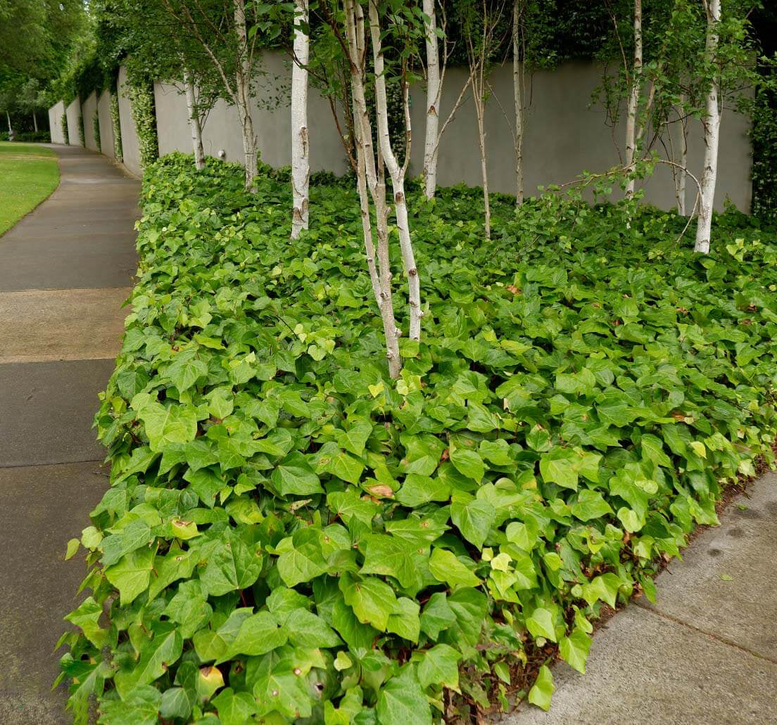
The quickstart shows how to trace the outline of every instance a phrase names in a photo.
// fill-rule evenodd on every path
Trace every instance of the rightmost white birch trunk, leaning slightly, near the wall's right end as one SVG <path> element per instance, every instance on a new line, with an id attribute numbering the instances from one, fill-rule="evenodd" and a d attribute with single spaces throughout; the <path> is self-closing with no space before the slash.
<path id="1" fill-rule="evenodd" d="M 720 23 L 720 0 L 707 2 L 706 61 L 714 64 L 718 49 L 718 23 Z M 709 238 L 713 224 L 713 202 L 718 172 L 718 142 L 720 140 L 720 108 L 718 106 L 718 78 L 713 77 L 707 90 L 704 118 L 704 171 L 702 172 L 702 200 L 699 206 L 699 224 L 696 227 L 694 251 L 709 252 Z"/>

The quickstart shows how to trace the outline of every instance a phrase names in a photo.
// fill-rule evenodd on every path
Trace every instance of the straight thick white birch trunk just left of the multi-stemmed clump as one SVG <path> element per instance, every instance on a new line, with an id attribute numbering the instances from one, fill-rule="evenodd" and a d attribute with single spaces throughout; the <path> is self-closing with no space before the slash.
<path id="1" fill-rule="evenodd" d="M 308 0 L 294 0 L 294 63 L 291 66 L 291 238 L 308 228 Z"/>

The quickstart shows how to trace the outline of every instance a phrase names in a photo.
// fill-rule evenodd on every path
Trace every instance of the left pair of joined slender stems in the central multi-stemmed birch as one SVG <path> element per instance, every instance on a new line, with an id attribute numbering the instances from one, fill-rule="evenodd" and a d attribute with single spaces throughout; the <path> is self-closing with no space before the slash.
<path id="1" fill-rule="evenodd" d="M 354 127 L 357 129 L 357 189 L 361 203 L 361 220 L 364 231 L 364 247 L 367 251 L 370 279 L 375 291 L 375 299 L 381 312 L 383 334 L 386 344 L 386 359 L 389 362 L 389 375 L 395 379 L 402 372 L 402 359 L 399 357 L 399 337 L 394 317 L 394 304 L 391 289 L 391 266 L 389 260 L 389 211 L 385 203 L 385 181 L 382 158 L 378 153 L 378 169 L 375 167 L 375 148 L 372 144 L 372 128 L 364 95 L 364 11 L 355 0 L 345 0 L 345 16 L 350 61 L 351 95 L 354 103 Z M 360 178 L 361 177 L 361 178 Z M 375 203 L 375 231 L 378 235 L 378 270 L 375 267 L 375 248 L 372 245 L 372 232 L 369 218 L 369 206 L 366 189 L 369 186 Z M 370 262 L 372 258 L 373 262 Z"/>

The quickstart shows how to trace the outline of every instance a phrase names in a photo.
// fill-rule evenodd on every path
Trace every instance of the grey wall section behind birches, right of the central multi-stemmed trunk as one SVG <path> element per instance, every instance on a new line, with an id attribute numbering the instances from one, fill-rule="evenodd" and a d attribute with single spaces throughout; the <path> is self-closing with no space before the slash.
<path id="1" fill-rule="evenodd" d="M 455 102 L 466 79 L 462 68 L 449 68 L 445 75 L 441 120 Z M 527 196 L 537 187 L 560 184 L 576 179 L 582 172 L 603 172 L 618 164 L 623 150 L 624 119 L 614 130 L 605 124 L 605 110 L 591 106 L 591 93 L 601 83 L 601 68 L 594 64 L 568 63 L 555 71 L 538 71 L 531 77 L 531 106 L 528 109 L 524 135 L 524 190 Z M 507 114 L 512 113 L 512 68 L 497 68 L 491 77 L 494 98 L 486 106 L 486 160 L 492 191 L 515 193 L 515 156 Z M 415 143 L 411 153 L 411 173 L 423 168 L 423 127 L 425 93 L 413 88 L 411 117 Z M 728 197 L 742 210 L 750 209 L 751 147 L 747 139 L 748 122 L 731 111 L 723 114 L 720 137 L 718 183 L 715 196 L 717 209 Z M 620 147 L 620 152 L 618 147 Z M 667 147 L 669 144 L 667 143 Z M 653 146 L 666 156 L 662 144 Z M 701 178 L 704 144 L 701 124 L 695 121 L 688 131 L 688 168 Z M 475 108 L 468 100 L 451 121 L 440 142 L 437 182 L 441 186 L 458 183 L 480 186 L 480 161 Z M 639 182 L 638 182 L 639 188 Z M 656 168 L 644 183 L 645 200 L 670 209 L 674 206 L 674 183 L 671 169 Z M 688 210 L 696 196 L 696 187 L 688 179 Z"/>

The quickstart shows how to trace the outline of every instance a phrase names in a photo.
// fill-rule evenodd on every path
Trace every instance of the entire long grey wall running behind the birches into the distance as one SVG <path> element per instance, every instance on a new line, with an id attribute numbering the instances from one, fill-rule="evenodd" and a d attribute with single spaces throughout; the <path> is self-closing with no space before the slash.
<path id="1" fill-rule="evenodd" d="M 141 175 L 138 137 L 132 119 L 131 103 L 124 93 L 127 81 L 125 68 L 119 72 L 119 116 L 124 149 L 124 165 Z M 458 92 L 465 82 L 463 68 L 449 68 L 441 102 L 441 119 L 447 116 Z M 524 137 L 524 190 L 527 196 L 537 193 L 538 186 L 570 182 L 584 171 L 604 172 L 618 164 L 623 153 L 625 113 L 615 129 L 605 123 L 605 110 L 591 105 L 591 93 L 601 83 L 601 68 L 589 63 L 564 64 L 555 71 L 538 71 L 528 78 L 531 98 L 526 117 Z M 289 61 L 281 54 L 268 53 L 263 57 L 262 75 L 257 84 L 256 99 L 252 101 L 252 117 L 260 158 L 273 166 L 291 162 L 289 132 L 290 109 L 287 99 L 291 83 Z M 486 108 L 486 151 L 489 184 L 492 191 L 514 193 L 515 161 L 510 127 L 500 105 L 511 116 L 513 88 L 511 68 L 497 68 L 491 78 L 493 98 Z M 186 99 L 181 88 L 173 83 L 154 85 L 159 154 L 171 151 L 191 153 L 191 134 L 187 123 Z M 91 97 L 90 97 L 91 98 Z M 499 102 L 500 101 L 501 104 Z M 85 108 L 89 99 L 85 103 Z M 103 150 L 113 156 L 113 134 L 110 122 L 110 97 L 99 98 L 100 132 Z M 57 104 L 50 110 L 52 138 L 59 131 Z M 90 106 L 91 107 L 91 106 Z M 80 106 L 68 106 L 68 127 L 71 144 L 78 143 L 76 124 Z M 93 112 L 92 112 L 93 113 Z M 310 120 L 310 157 L 312 171 L 322 169 L 336 173 L 347 171 L 345 152 L 338 137 L 329 102 L 311 89 L 308 114 Z M 423 168 L 423 128 L 425 94 L 417 86 L 411 92 L 413 120 L 413 149 L 410 174 L 417 175 Z M 72 120 L 71 120 L 71 115 Z M 85 111 L 85 127 L 91 123 Z M 749 122 L 744 116 L 727 110 L 723 113 L 720 138 L 719 175 L 715 205 L 723 208 L 730 199 L 741 210 L 749 210 L 751 203 L 751 145 L 747 138 Z M 674 124 L 677 134 L 678 124 Z M 87 140 L 89 132 L 87 131 Z M 109 140 L 110 139 L 110 140 Z M 653 148 L 667 155 L 669 138 L 659 139 Z M 228 161 L 242 161 L 242 140 L 237 112 L 224 101 L 216 103 L 203 128 L 205 152 L 213 156 L 225 151 Z M 89 145 L 89 144 L 87 144 Z M 678 138 L 674 137 L 674 147 Z M 688 132 L 688 168 L 701 177 L 704 142 L 701 124 L 690 123 Z M 441 186 L 465 183 L 480 186 L 480 161 L 477 126 L 472 99 L 464 105 L 448 126 L 440 144 L 438 182 Z M 645 200 L 664 209 L 674 207 L 674 183 L 671 169 L 657 166 L 644 186 Z M 618 192 L 619 193 L 619 192 Z M 618 196 L 618 193 L 615 196 Z M 696 187 L 692 179 L 687 185 L 687 209 L 693 207 Z"/>

